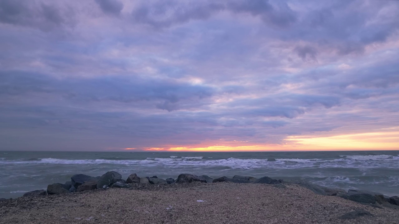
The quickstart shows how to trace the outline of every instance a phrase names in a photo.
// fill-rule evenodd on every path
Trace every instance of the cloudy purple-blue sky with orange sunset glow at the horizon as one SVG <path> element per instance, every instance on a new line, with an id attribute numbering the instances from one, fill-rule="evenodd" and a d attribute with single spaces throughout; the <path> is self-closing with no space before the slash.
<path id="1" fill-rule="evenodd" d="M 0 0 L 0 150 L 399 150 L 398 12 Z"/>

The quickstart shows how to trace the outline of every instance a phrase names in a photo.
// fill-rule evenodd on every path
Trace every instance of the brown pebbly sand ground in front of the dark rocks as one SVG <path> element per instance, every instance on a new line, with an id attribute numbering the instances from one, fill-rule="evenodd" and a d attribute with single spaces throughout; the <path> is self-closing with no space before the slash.
<path id="1" fill-rule="evenodd" d="M 297 185 L 190 183 L 95 190 L 0 201 L 0 223 L 399 223 L 375 208 Z M 139 187 L 139 189 L 137 189 Z M 203 200 L 203 202 L 197 202 Z M 338 217 L 355 209 L 373 214 Z"/>

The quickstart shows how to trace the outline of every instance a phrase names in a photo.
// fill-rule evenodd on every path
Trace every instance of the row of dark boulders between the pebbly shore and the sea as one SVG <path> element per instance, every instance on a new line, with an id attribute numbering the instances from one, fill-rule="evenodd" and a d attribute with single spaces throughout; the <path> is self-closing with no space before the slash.
<path id="1" fill-rule="evenodd" d="M 77 174 L 71 177 L 71 181 L 66 183 L 53 183 L 47 186 L 47 189 L 40 189 L 36 191 L 30 191 L 24 194 L 23 197 L 30 196 L 44 196 L 44 195 L 59 195 L 69 194 L 81 191 L 90 191 L 95 189 L 109 189 L 113 188 L 128 188 L 133 189 L 137 184 L 140 185 L 171 185 L 171 184 L 183 184 L 192 182 L 202 183 L 253 183 L 253 184 L 267 184 L 273 185 L 277 188 L 286 188 L 286 185 L 299 185 L 313 191 L 318 195 L 325 196 L 338 196 L 344 199 L 352 200 L 362 204 L 369 204 L 373 206 L 384 206 L 394 209 L 399 209 L 399 197 L 398 196 L 385 196 L 380 193 L 370 191 L 358 191 L 344 189 L 332 189 L 315 185 L 304 179 L 295 180 L 276 180 L 270 177 L 261 177 L 259 179 L 254 177 L 235 175 L 232 178 L 229 177 L 218 177 L 213 179 L 207 175 L 193 175 L 193 174 L 180 174 L 175 180 L 173 178 L 161 179 L 157 176 L 152 177 L 138 177 L 135 173 L 131 174 L 126 180 L 122 179 L 122 175 L 115 171 L 109 171 L 103 174 L 101 177 L 91 177 L 84 174 Z M 6 200 L 1 198 L 1 200 Z"/>

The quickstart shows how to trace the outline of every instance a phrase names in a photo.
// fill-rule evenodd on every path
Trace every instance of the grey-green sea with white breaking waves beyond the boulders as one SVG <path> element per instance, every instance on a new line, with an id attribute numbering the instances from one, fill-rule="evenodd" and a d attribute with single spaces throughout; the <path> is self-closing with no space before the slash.
<path id="1" fill-rule="evenodd" d="M 268 161 L 275 159 L 275 161 Z M 316 152 L 49 152 L 0 151 L 0 198 L 46 189 L 74 174 L 117 171 L 126 179 L 180 173 L 305 178 L 318 185 L 399 195 L 399 151 Z"/>

